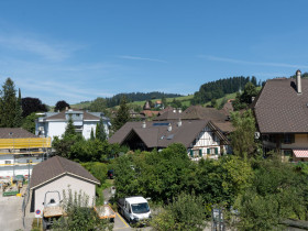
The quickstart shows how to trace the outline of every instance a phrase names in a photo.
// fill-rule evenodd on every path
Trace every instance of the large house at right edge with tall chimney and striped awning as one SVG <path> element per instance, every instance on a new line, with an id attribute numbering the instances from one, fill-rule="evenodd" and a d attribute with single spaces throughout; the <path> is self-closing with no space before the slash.
<path id="1" fill-rule="evenodd" d="M 267 80 L 252 103 L 265 152 L 277 150 L 283 160 L 308 160 L 308 79 Z"/>

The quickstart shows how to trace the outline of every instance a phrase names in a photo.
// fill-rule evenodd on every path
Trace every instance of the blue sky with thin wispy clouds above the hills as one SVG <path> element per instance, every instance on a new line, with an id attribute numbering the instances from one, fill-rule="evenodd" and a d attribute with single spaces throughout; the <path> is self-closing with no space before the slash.
<path id="1" fill-rule="evenodd" d="M 76 103 L 308 72 L 308 1 L 0 1 L 0 81 Z"/>

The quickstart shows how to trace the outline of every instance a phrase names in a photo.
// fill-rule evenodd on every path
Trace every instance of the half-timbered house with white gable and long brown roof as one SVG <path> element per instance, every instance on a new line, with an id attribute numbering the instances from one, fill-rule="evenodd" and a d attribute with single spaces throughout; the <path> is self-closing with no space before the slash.
<path id="1" fill-rule="evenodd" d="M 218 158 L 231 151 L 224 133 L 210 120 L 128 122 L 109 142 L 145 151 L 182 143 L 187 154 L 196 161 L 201 157 Z"/>

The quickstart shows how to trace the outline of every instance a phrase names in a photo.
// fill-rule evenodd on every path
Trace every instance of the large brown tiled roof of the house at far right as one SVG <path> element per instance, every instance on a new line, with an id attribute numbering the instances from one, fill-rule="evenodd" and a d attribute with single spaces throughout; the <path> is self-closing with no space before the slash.
<path id="1" fill-rule="evenodd" d="M 252 106 L 261 133 L 308 133 L 308 79 L 301 88 L 295 79 L 266 81 Z"/>

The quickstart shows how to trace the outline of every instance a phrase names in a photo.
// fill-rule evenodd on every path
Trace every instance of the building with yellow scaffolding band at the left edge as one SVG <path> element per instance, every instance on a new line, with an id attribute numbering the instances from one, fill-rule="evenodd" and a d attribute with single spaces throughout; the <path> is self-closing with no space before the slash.
<path id="1" fill-rule="evenodd" d="M 51 139 L 38 138 L 24 129 L 0 129 L 0 178 L 29 177 L 34 165 L 51 153 Z"/>

